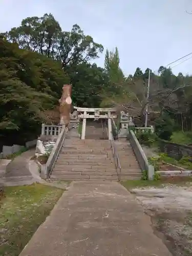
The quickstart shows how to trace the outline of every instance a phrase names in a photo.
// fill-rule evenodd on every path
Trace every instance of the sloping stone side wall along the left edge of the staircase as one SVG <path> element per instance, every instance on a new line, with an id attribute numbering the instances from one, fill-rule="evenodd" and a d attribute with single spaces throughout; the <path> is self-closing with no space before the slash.
<path id="1" fill-rule="evenodd" d="M 47 179 L 50 177 L 55 161 L 57 160 L 60 149 L 65 140 L 67 131 L 68 131 L 68 128 L 65 125 L 62 125 L 61 132 L 57 138 L 57 141 L 53 147 L 53 150 L 51 151 L 51 154 L 47 160 L 47 163 L 41 166 L 41 178 Z"/>

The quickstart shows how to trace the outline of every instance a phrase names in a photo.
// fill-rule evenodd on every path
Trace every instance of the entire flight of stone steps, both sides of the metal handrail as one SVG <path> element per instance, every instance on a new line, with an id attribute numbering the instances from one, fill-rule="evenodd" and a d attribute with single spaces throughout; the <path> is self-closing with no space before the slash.
<path id="1" fill-rule="evenodd" d="M 141 170 L 127 141 L 117 141 L 121 163 L 121 180 L 141 179 Z M 119 172 L 119 171 L 118 171 Z M 51 179 L 116 180 L 111 142 L 109 140 L 66 138 L 54 165 Z"/>

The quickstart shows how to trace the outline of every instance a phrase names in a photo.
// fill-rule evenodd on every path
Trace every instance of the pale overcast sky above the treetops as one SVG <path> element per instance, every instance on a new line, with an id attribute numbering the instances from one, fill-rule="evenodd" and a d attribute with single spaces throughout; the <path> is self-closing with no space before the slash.
<path id="1" fill-rule="evenodd" d="M 22 19 L 52 13 L 62 30 L 78 24 L 85 34 L 113 50 L 123 72 L 157 70 L 192 52 L 191 0 L 0 0 L 0 32 Z M 191 55 L 192 56 L 192 55 Z M 103 67 L 104 54 L 96 60 Z M 192 58 L 173 68 L 192 74 Z"/>

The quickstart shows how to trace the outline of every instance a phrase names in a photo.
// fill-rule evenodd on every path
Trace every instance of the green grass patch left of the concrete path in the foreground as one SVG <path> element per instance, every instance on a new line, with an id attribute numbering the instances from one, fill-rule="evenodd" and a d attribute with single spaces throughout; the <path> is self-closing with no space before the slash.
<path id="1" fill-rule="evenodd" d="M 0 255 L 18 256 L 62 193 L 42 184 L 7 187 L 0 211 Z"/>

